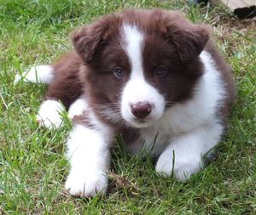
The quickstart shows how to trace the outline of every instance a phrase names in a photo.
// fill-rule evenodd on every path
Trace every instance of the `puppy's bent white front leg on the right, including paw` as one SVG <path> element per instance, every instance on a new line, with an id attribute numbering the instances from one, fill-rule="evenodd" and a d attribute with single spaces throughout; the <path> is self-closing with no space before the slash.
<path id="1" fill-rule="evenodd" d="M 186 181 L 199 172 L 202 156 L 218 144 L 222 132 L 221 124 L 211 123 L 172 139 L 156 163 L 156 172 L 163 176 L 173 173 L 177 180 Z"/>

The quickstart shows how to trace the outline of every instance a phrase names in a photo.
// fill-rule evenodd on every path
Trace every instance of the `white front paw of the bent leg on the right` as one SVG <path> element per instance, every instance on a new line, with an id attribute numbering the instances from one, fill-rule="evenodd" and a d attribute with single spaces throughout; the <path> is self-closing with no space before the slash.
<path id="1" fill-rule="evenodd" d="M 173 172 L 174 178 L 185 182 L 191 174 L 198 173 L 201 169 L 201 158 L 175 157 L 175 161 L 172 160 L 169 153 L 162 154 L 156 163 L 155 171 L 164 177 L 171 176 Z"/>

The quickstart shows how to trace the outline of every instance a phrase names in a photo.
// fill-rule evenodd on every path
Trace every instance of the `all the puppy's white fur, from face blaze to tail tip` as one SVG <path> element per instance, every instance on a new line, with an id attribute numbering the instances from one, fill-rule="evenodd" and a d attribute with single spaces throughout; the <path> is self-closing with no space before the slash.
<path id="1" fill-rule="evenodd" d="M 131 76 L 121 93 L 119 104 L 96 106 L 107 120 L 128 122 L 136 128 L 140 138 L 128 145 L 128 150 L 137 153 L 147 150 L 151 156 L 159 156 L 155 171 L 160 175 L 173 176 L 185 181 L 203 167 L 202 156 L 206 156 L 218 144 L 224 127 L 216 115 L 225 97 L 224 82 L 221 81 L 212 56 L 206 51 L 200 55 L 204 75 L 197 82 L 193 98 L 165 110 L 164 96 L 149 84 L 143 74 L 143 30 L 136 25 L 124 24 L 122 47 L 131 62 Z M 49 84 L 54 78 L 53 67 L 38 65 L 15 77 L 25 82 Z M 143 119 L 131 113 L 131 105 L 148 102 L 152 110 Z M 45 100 L 38 111 L 40 126 L 60 127 L 65 110 L 56 100 Z M 100 122 L 84 97 L 70 106 L 68 117 L 80 115 L 86 110 L 85 124 L 75 124 L 67 140 L 67 160 L 70 171 L 65 188 L 71 195 L 94 196 L 105 194 L 108 187 L 109 148 L 113 142 L 113 130 Z M 119 114 L 121 112 L 121 116 Z M 86 123 L 84 122 L 84 123 Z M 156 138 L 157 137 L 157 138 Z M 155 141 L 155 142 L 154 142 Z"/>

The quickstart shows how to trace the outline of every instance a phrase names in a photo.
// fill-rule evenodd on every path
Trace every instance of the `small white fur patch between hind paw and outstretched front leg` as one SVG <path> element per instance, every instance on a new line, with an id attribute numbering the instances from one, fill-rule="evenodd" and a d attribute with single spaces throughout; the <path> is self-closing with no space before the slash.
<path id="1" fill-rule="evenodd" d="M 68 118 L 73 120 L 74 116 L 79 116 L 83 113 L 84 110 L 88 109 L 88 104 L 85 100 L 84 95 L 80 96 L 79 99 L 76 99 L 68 109 Z"/>

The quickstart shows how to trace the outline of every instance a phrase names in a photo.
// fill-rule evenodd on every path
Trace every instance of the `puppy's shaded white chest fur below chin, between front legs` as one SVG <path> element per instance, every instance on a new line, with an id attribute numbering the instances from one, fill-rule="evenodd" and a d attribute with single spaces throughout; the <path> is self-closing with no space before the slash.
<path id="1" fill-rule="evenodd" d="M 189 116 L 187 107 L 175 106 L 151 127 L 140 128 L 129 133 L 130 141 L 125 141 L 131 154 L 146 150 L 151 156 L 159 156 L 166 146 L 183 133 L 194 129 L 202 122 L 198 117 Z"/>

